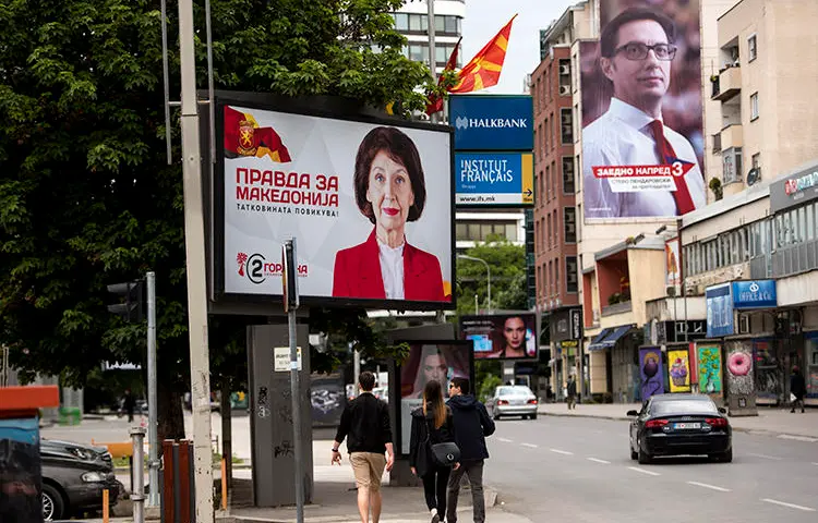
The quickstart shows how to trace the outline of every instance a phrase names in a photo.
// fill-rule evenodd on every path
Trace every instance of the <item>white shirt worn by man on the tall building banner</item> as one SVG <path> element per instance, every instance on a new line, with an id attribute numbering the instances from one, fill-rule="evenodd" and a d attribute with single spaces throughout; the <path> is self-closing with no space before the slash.
<path id="1" fill-rule="evenodd" d="M 655 166 L 660 161 L 657 143 L 650 131 L 654 118 L 640 109 L 611 98 L 611 107 L 582 130 L 582 191 L 586 218 L 633 218 L 676 216 L 676 200 L 671 191 L 614 193 L 605 179 L 593 177 L 593 167 Z M 694 206 L 707 205 L 705 177 L 690 143 L 664 127 L 664 136 L 678 159 L 694 165 L 685 174 Z"/>

